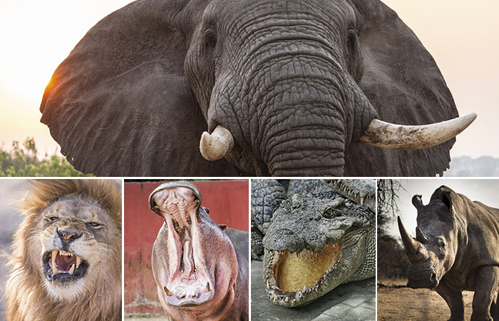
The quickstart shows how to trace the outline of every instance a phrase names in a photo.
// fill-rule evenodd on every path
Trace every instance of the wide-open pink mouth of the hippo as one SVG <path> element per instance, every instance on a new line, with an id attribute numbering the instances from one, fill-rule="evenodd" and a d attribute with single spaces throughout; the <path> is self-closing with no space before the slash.
<path id="1" fill-rule="evenodd" d="M 194 185 L 187 182 L 160 185 L 150 195 L 151 209 L 165 218 L 168 228 L 169 273 L 163 292 L 173 306 L 195 306 L 209 302 L 214 285 L 207 275 L 203 255 L 200 255 L 200 220 L 198 211 L 201 196 Z"/>

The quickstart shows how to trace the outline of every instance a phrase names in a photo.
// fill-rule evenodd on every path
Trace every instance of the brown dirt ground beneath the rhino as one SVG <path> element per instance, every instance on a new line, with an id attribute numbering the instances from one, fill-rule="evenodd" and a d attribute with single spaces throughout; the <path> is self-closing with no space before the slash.
<path id="1" fill-rule="evenodd" d="M 437 292 L 428 289 L 411 289 L 405 280 L 378 281 L 378 321 L 446 321 L 451 317 L 447 303 Z M 465 320 L 470 320 L 473 292 L 463 292 Z"/>

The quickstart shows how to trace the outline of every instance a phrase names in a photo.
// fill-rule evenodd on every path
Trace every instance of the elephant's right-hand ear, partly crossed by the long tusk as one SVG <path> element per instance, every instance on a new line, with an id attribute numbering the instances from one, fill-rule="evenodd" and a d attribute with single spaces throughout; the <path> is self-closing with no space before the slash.
<path id="1" fill-rule="evenodd" d="M 351 0 L 357 16 L 364 76 L 359 86 L 382 121 L 423 125 L 458 116 L 451 92 L 421 41 L 378 0 Z M 365 143 L 346 150 L 345 173 L 379 176 L 442 175 L 455 138 L 418 151 L 392 151 Z M 362 159 L 363 163 L 356 161 Z"/>

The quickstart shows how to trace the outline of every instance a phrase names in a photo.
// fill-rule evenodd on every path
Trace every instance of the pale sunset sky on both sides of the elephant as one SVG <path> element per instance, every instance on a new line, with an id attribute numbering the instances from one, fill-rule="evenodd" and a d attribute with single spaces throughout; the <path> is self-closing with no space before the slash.
<path id="1" fill-rule="evenodd" d="M 61 61 L 110 12 L 128 0 L 2 0 L 0 2 L 0 146 L 34 137 L 39 156 L 58 145 L 39 122 L 46 83 Z M 452 157 L 493 156 L 499 144 L 499 1 L 386 0 L 441 68 L 461 115 L 477 120 L 458 136 Z M 490 138 L 492 137 L 492 138 Z"/>

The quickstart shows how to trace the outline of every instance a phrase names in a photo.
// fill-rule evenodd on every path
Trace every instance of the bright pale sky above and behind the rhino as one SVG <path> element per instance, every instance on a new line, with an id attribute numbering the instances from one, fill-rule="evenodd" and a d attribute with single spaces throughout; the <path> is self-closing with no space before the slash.
<path id="1" fill-rule="evenodd" d="M 398 180 L 405 190 L 398 193 L 398 208 L 403 225 L 412 236 L 416 236 L 416 208 L 412 205 L 413 195 L 422 195 L 423 204 L 430 201 L 433 192 L 446 185 L 454 192 L 463 194 L 470 200 L 479 200 L 485 205 L 499 208 L 499 180 L 498 179 L 463 179 L 463 178 L 432 178 L 432 179 L 410 179 Z M 389 227 L 389 234 L 400 240 L 397 221 L 393 220 Z"/>

